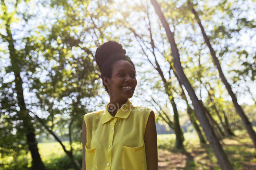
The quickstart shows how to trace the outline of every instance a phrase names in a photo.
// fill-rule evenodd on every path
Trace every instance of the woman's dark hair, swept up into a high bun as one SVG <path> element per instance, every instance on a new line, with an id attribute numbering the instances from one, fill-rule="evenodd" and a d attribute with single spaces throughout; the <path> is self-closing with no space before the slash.
<path id="1" fill-rule="evenodd" d="M 115 41 L 108 41 L 100 45 L 95 53 L 95 60 L 97 65 L 100 68 L 101 79 L 103 81 L 103 76 L 111 79 L 113 65 L 119 60 L 126 60 L 134 66 L 134 63 L 131 61 L 131 58 L 128 57 L 125 49 L 122 48 L 122 45 Z M 135 69 L 135 66 L 134 66 Z M 108 92 L 107 86 L 104 84 L 105 90 Z"/>

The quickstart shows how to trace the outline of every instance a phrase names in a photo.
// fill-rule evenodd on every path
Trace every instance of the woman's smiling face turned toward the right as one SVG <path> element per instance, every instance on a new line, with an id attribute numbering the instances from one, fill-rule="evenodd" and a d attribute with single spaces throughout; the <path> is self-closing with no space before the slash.
<path id="1" fill-rule="evenodd" d="M 137 85 L 136 72 L 132 64 L 126 60 L 119 60 L 113 65 L 111 79 L 106 84 L 110 99 L 122 101 L 133 96 Z"/>

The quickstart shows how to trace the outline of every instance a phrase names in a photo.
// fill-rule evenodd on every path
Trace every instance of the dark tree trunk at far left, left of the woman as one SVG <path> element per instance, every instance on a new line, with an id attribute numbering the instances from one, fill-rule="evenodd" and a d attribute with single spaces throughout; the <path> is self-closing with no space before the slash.
<path id="1" fill-rule="evenodd" d="M 6 11 L 4 12 L 6 14 Z M 14 48 L 14 40 L 11 33 L 10 28 L 10 20 L 11 18 L 8 18 L 6 20 L 6 41 L 8 42 L 8 48 L 9 48 L 9 54 L 11 59 L 11 70 L 14 72 L 15 75 L 15 90 L 17 92 L 17 98 L 18 98 L 18 104 L 20 107 L 20 111 L 17 112 L 19 118 L 23 120 L 23 126 L 26 133 L 26 139 L 28 148 L 30 150 L 31 156 L 32 156 L 32 169 L 33 170 L 45 170 L 45 166 L 43 164 L 43 161 L 41 159 L 41 156 L 38 151 L 37 147 L 37 140 L 35 139 L 35 128 L 33 127 L 32 118 L 28 114 L 28 110 L 26 109 L 26 104 L 24 101 L 24 94 L 23 94 L 23 88 L 22 88 L 22 79 L 20 77 L 20 61 L 17 57 L 18 52 Z"/>

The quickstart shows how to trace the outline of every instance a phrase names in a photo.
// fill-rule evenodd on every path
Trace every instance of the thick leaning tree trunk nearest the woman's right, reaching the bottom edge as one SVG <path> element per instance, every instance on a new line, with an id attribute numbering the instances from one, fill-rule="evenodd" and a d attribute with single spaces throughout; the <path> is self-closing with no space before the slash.
<path id="1" fill-rule="evenodd" d="M 211 127 L 211 125 L 204 113 L 204 109 L 202 108 L 202 106 L 195 94 L 195 91 L 193 90 L 186 75 L 184 74 L 184 71 L 183 71 L 181 63 L 180 63 L 180 54 L 178 52 L 178 48 L 174 41 L 173 33 L 171 32 L 171 30 L 169 28 L 169 25 L 161 11 L 161 8 L 158 5 L 158 3 L 156 2 L 156 0 L 151 0 L 151 3 L 154 6 L 154 9 L 159 16 L 161 23 L 163 24 L 163 27 L 164 27 L 166 35 L 168 37 L 169 43 L 171 45 L 171 51 L 172 51 L 172 56 L 173 56 L 173 60 L 174 60 L 174 68 L 178 75 L 177 79 L 179 79 L 180 82 L 182 82 L 182 84 L 185 86 L 185 88 L 189 94 L 189 97 L 191 98 L 191 101 L 195 108 L 195 112 L 197 114 L 198 120 L 200 121 L 200 124 L 203 127 L 203 130 L 206 134 L 208 141 L 211 144 L 211 147 L 213 148 L 213 151 L 215 152 L 215 155 L 218 159 L 218 162 L 219 162 L 221 168 L 223 170 L 232 170 L 233 168 L 228 161 L 228 157 L 226 156 L 221 144 L 219 143 L 219 140 L 217 139 L 215 133 L 213 132 L 213 128 Z"/>

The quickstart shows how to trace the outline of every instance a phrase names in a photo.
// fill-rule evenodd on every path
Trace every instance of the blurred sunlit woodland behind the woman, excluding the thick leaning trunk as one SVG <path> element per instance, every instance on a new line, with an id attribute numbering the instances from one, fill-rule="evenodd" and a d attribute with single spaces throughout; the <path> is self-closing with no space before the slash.
<path id="1" fill-rule="evenodd" d="M 230 164 L 255 170 L 255 0 L 157 0 L 169 34 L 154 2 L 1 0 L 0 169 L 82 168 L 83 115 L 109 102 L 94 55 L 114 40 L 135 63 L 130 101 L 156 114 L 158 169 L 221 169 L 177 79 L 178 51 Z"/>

